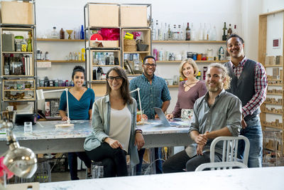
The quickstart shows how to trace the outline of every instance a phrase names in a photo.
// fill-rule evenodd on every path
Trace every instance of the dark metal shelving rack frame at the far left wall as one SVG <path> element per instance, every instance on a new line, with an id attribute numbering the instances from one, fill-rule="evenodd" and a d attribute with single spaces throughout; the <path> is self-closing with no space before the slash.
<path id="1" fill-rule="evenodd" d="M 36 95 L 35 90 L 37 88 L 37 72 L 36 72 L 36 64 L 35 64 L 35 50 L 36 50 L 36 25 L 35 25 L 35 0 L 28 1 L 33 6 L 33 24 L 16 24 L 16 23 L 0 23 L 0 85 L 1 85 L 1 111 L 5 109 L 6 104 L 9 102 L 33 102 L 33 112 L 36 113 L 37 105 L 36 105 Z M 2 46 L 2 33 L 3 31 L 31 31 L 32 33 L 32 51 L 31 52 L 3 52 Z M 5 75 L 4 73 L 4 54 L 31 54 L 32 55 L 32 73 L 31 75 Z M 27 89 L 26 91 L 33 91 L 33 98 L 32 99 L 21 99 L 21 100 L 4 100 L 4 82 L 5 81 L 18 81 L 18 80 L 33 80 L 33 88 L 34 89 Z M 25 90 L 10 90 L 10 91 L 17 91 L 17 92 L 24 92 Z"/>

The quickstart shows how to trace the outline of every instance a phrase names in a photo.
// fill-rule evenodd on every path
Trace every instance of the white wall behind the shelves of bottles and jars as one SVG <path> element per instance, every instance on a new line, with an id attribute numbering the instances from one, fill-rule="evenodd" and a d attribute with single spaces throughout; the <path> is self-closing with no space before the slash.
<path id="1" fill-rule="evenodd" d="M 57 28 L 73 29 L 79 28 L 84 24 L 84 12 L 83 7 L 87 3 L 87 0 L 37 0 L 36 1 L 36 22 L 38 34 L 43 35 L 47 31 L 51 31 L 53 26 Z M 200 1 L 182 1 L 176 0 L 174 2 L 162 1 L 162 0 L 148 0 L 148 1 L 92 1 L 102 3 L 140 3 L 140 4 L 152 4 L 153 19 L 158 19 L 162 22 L 173 23 L 194 23 L 195 28 L 199 27 L 201 23 L 212 23 L 217 26 L 217 36 L 221 39 L 222 26 L 224 21 L 226 23 L 236 24 L 239 34 L 244 37 L 245 40 L 245 53 L 246 56 L 257 60 L 258 57 L 258 15 L 268 11 L 275 11 L 278 9 L 284 9 L 283 0 L 200 0 Z M 42 43 L 38 44 L 42 48 L 45 46 Z M 51 45 L 50 45 L 51 46 Z M 81 45 L 71 44 L 73 48 L 80 48 Z M 160 45 L 154 45 L 159 46 Z M 182 50 L 194 50 L 194 51 L 206 51 L 207 45 L 195 46 L 195 45 L 165 45 L 163 48 L 170 48 L 170 50 L 180 52 Z M 210 46 L 211 47 L 211 46 Z M 65 48 L 62 47 L 48 47 L 51 48 L 51 56 L 53 52 L 62 53 L 62 59 L 65 58 Z M 72 47 L 68 47 L 72 48 Z M 214 45 L 214 51 L 216 52 L 219 46 Z M 64 54 L 64 55 L 63 55 Z M 61 55 L 61 54 L 60 54 Z M 74 65 L 57 65 L 56 70 L 41 70 L 38 72 L 40 76 L 48 75 L 53 72 L 53 75 L 58 75 L 60 78 L 70 78 L 70 73 Z M 201 65 L 202 68 L 203 65 Z M 65 70 L 65 72 L 61 72 Z M 178 64 L 161 64 L 158 65 L 158 74 L 166 78 L 178 74 Z M 169 71 L 170 70 L 170 71 Z M 173 97 L 169 111 L 173 110 L 175 105 L 178 90 L 171 89 L 171 95 Z"/>

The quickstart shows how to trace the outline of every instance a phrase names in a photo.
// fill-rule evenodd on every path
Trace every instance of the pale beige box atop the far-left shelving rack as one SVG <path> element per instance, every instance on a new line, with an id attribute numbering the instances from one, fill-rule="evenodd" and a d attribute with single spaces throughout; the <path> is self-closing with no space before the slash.
<path id="1" fill-rule="evenodd" d="M 33 4 L 29 2 L 1 1 L 1 23 L 34 24 Z"/>

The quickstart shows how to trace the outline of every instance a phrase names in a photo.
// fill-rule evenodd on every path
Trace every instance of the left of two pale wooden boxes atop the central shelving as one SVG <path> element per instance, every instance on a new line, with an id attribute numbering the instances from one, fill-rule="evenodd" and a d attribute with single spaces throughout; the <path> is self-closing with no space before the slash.
<path id="1" fill-rule="evenodd" d="M 119 27 L 119 6 L 89 4 L 89 26 Z"/>

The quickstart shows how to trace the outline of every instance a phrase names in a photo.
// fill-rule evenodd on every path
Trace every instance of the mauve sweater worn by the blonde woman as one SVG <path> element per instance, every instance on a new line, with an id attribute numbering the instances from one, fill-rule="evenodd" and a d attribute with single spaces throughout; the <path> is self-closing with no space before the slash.
<path id="1" fill-rule="evenodd" d="M 195 101 L 207 93 L 206 85 L 203 81 L 198 81 L 190 90 L 185 92 L 183 86 L 185 81 L 180 82 L 178 88 L 178 101 L 175 104 L 175 110 L 173 110 L 173 117 L 180 117 L 182 109 L 192 109 Z"/>

